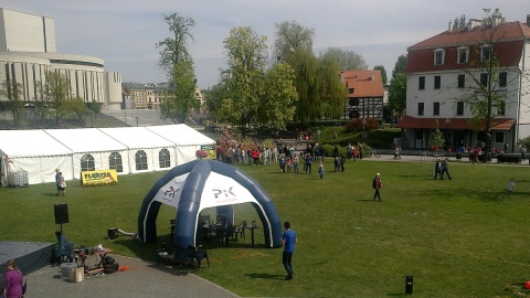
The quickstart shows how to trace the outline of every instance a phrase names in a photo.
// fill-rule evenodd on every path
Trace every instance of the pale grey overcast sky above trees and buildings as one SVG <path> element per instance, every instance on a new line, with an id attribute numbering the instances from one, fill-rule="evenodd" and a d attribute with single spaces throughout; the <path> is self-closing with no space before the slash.
<path id="1" fill-rule="evenodd" d="M 105 60 L 123 82 L 158 83 L 156 43 L 171 36 L 165 14 L 192 18 L 189 43 L 201 88 L 218 83 L 224 68 L 223 40 L 236 26 L 250 26 L 274 43 L 275 24 L 296 21 L 315 29 L 316 54 L 330 47 L 352 50 L 369 68 L 392 73 L 406 47 L 436 35 L 462 14 L 481 19 L 499 8 L 507 21 L 526 22 L 528 0 L 0 0 L 0 7 L 55 20 L 57 52 Z"/>

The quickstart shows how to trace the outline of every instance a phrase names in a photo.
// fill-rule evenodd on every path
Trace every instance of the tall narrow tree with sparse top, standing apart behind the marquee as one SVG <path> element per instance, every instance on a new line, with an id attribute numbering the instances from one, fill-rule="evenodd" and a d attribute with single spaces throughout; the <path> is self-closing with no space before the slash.
<path id="1" fill-rule="evenodd" d="M 169 88 L 161 96 L 161 117 L 183 123 L 190 110 L 200 107 L 200 103 L 194 98 L 193 60 L 187 47 L 187 39 L 193 40 L 191 28 L 195 25 L 195 21 L 177 13 L 165 15 L 165 21 L 173 38 L 157 43 L 157 49 L 161 49 L 159 66 L 167 72 L 169 81 Z"/>

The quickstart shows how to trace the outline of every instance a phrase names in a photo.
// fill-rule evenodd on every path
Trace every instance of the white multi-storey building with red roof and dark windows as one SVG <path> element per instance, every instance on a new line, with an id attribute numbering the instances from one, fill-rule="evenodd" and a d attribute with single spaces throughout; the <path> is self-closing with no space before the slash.
<path id="1" fill-rule="evenodd" d="M 492 74 L 498 74 L 498 88 L 507 94 L 504 108 L 494 110 L 490 146 L 507 146 L 512 152 L 518 140 L 530 136 L 530 15 L 526 23 L 501 23 L 495 14 L 490 20 L 488 24 L 470 20 L 458 29 L 449 23 L 447 31 L 407 49 L 406 116 L 396 125 L 404 129 L 404 147 L 428 149 L 436 128 L 453 150 L 485 142 L 485 126 L 471 125 L 474 114 L 463 95 L 474 78 L 484 84 L 488 77 L 475 66 L 486 54 L 497 57 L 499 72 Z M 495 47 L 484 36 L 492 36 Z"/>

